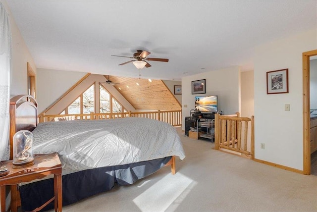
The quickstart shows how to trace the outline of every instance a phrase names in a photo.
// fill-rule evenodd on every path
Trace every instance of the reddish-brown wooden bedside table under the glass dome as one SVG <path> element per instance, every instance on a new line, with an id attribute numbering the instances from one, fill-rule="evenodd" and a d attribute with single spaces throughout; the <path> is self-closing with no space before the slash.
<path id="1" fill-rule="evenodd" d="M 17 184 L 22 182 L 30 182 L 35 179 L 41 179 L 48 175 L 54 175 L 54 197 L 46 202 L 43 206 L 34 209 L 33 212 L 42 210 L 53 200 L 55 204 L 55 212 L 62 210 L 62 184 L 61 184 L 61 163 L 56 153 L 49 155 L 34 155 L 34 165 L 24 168 L 12 168 L 12 161 L 2 161 L 1 166 L 6 166 L 9 173 L 0 177 L 0 196 L 1 211 L 5 211 L 5 185 L 11 187 L 11 211 L 17 212 L 18 208 L 18 192 Z"/>

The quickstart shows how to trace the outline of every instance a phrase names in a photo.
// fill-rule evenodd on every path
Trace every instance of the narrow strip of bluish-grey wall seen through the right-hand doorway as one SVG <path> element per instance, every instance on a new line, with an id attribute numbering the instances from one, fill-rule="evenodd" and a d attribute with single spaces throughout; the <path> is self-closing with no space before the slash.
<path id="1" fill-rule="evenodd" d="M 310 106 L 317 109 L 317 59 L 310 61 Z"/>

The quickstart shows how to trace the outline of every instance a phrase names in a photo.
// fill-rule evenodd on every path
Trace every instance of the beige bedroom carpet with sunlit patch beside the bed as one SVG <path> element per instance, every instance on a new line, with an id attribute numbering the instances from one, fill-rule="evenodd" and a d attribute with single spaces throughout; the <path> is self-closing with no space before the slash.
<path id="1" fill-rule="evenodd" d="M 186 158 L 175 175 L 160 169 L 63 212 L 316 212 L 317 176 L 302 175 L 213 150 L 184 137 Z M 53 210 L 52 210 L 53 212 Z"/>

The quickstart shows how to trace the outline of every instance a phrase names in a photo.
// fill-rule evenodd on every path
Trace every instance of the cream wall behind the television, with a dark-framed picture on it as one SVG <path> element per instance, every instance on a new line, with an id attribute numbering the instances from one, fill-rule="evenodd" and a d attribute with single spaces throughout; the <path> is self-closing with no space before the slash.
<path id="1" fill-rule="evenodd" d="M 206 94 L 192 94 L 192 81 L 206 79 Z M 195 108 L 195 96 L 218 96 L 218 110 L 222 114 L 240 112 L 240 69 L 209 71 L 182 78 L 182 120 Z M 186 107 L 187 106 L 187 107 Z M 183 124 L 182 129 L 185 129 Z"/>

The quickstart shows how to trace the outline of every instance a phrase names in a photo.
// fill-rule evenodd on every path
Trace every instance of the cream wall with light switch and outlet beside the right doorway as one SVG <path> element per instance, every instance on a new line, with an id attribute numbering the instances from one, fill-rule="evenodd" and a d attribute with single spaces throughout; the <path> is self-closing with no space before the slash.
<path id="1" fill-rule="evenodd" d="M 317 49 L 316 29 L 255 49 L 255 158 L 303 170 L 303 59 Z M 288 68 L 288 94 L 266 94 L 266 72 Z M 285 111 L 290 104 L 290 111 Z M 265 149 L 260 144 L 265 144 Z"/>

